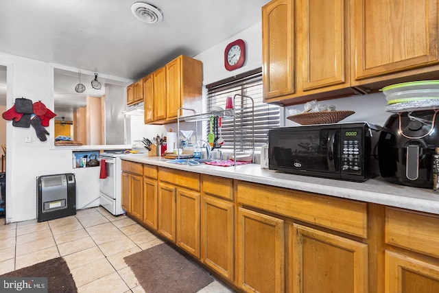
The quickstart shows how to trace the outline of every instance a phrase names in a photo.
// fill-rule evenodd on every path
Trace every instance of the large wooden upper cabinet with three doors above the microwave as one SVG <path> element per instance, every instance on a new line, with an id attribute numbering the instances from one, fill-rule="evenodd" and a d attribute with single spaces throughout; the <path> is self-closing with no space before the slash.
<path id="1" fill-rule="evenodd" d="M 264 101 L 300 104 L 437 78 L 437 6 L 436 0 L 270 1 L 262 8 Z"/>

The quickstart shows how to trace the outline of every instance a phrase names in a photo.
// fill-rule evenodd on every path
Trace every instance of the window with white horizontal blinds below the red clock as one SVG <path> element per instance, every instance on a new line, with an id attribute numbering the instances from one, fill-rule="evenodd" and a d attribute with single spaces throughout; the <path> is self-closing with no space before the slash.
<path id="1" fill-rule="evenodd" d="M 235 97 L 237 151 L 243 152 L 252 148 L 252 97 L 254 102 L 254 146 L 255 148 L 268 143 L 268 130 L 279 127 L 279 106 L 263 103 L 261 69 L 249 71 L 229 78 L 208 84 L 207 110 L 219 106 L 226 108 L 227 97 Z M 238 95 L 237 95 L 238 94 Z M 236 95 L 236 96 L 235 96 Z M 209 132 L 209 128 L 207 129 Z M 221 134 L 224 138 L 222 150 L 233 150 L 233 117 L 225 116 L 222 119 Z"/>

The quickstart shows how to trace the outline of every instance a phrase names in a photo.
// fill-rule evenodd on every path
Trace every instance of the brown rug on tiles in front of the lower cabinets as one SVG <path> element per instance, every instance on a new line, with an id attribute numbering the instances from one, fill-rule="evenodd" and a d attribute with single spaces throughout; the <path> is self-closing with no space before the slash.
<path id="1" fill-rule="evenodd" d="M 145 292 L 195 293 L 213 278 L 168 244 L 125 257 Z"/>

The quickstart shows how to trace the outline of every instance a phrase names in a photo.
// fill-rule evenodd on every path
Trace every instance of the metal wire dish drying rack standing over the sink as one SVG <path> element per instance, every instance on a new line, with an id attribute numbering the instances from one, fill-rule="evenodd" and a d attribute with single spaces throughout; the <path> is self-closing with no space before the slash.
<path id="1" fill-rule="evenodd" d="M 237 102 L 238 108 L 237 108 Z M 246 105 L 251 103 L 251 108 Z M 193 115 L 181 116 L 182 110 L 191 111 Z M 192 108 L 178 108 L 177 116 L 177 141 L 180 142 L 180 122 L 195 122 L 195 141 L 198 139 L 198 123 L 209 121 L 211 116 L 221 116 L 223 121 L 233 119 L 233 158 L 237 158 L 237 151 L 245 153 L 251 151 L 252 162 L 254 162 L 254 100 L 248 95 L 235 94 L 233 96 L 233 108 L 209 113 L 197 113 Z M 248 120 L 250 118 L 250 121 Z M 246 120 L 244 120 L 246 119 Z M 239 128 L 239 129 L 237 129 Z M 238 138 L 239 139 L 238 141 Z M 177 159 L 180 159 L 178 154 Z M 236 161 L 233 165 L 236 165 Z"/>

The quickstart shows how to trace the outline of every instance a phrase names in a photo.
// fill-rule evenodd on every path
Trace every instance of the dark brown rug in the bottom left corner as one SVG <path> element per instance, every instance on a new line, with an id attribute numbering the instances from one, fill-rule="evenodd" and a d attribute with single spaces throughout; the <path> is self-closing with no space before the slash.
<path id="1" fill-rule="evenodd" d="M 78 292 L 69 266 L 62 257 L 7 272 L 0 277 L 46 277 L 48 292 Z"/>

